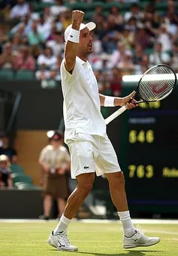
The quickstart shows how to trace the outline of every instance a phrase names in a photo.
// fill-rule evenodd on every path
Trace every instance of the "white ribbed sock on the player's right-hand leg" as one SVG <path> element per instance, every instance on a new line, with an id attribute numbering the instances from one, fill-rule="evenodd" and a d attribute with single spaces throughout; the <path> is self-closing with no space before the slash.
<path id="1" fill-rule="evenodd" d="M 122 223 L 123 233 L 127 237 L 131 237 L 135 233 L 134 226 L 131 222 L 130 212 L 129 211 L 117 211 L 120 221 Z"/>

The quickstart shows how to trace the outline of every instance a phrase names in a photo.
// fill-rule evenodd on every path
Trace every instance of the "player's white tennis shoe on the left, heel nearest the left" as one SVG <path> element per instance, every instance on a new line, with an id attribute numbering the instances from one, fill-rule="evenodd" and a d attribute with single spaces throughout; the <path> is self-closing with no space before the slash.
<path id="1" fill-rule="evenodd" d="M 59 251 L 78 251 L 77 246 L 71 245 L 67 232 L 59 233 L 54 236 L 52 231 L 47 242 L 49 245 L 56 247 Z"/>

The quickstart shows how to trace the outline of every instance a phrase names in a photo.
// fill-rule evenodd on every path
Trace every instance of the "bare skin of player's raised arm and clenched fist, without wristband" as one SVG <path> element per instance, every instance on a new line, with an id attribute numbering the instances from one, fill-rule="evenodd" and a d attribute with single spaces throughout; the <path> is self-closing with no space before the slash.
<path id="1" fill-rule="evenodd" d="M 83 22 L 84 12 L 83 11 L 72 11 L 72 29 L 80 29 L 80 23 Z M 69 35 L 70 36 L 70 35 Z M 67 41 L 65 45 L 65 69 L 68 72 L 72 72 L 74 69 L 79 43 Z"/>

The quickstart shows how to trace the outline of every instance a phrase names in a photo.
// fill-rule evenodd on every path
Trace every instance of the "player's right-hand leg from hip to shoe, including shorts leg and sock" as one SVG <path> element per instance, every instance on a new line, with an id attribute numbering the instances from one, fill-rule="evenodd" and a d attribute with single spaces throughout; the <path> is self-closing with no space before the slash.
<path id="1" fill-rule="evenodd" d="M 100 154 L 98 156 L 99 168 L 104 170 L 110 187 L 110 195 L 113 204 L 119 214 L 123 228 L 123 247 L 134 248 L 137 246 L 155 245 L 160 241 L 158 237 L 148 237 L 136 230 L 131 222 L 130 213 L 128 211 L 128 202 L 125 193 L 125 179 L 120 170 L 115 150 L 108 138 L 100 141 Z"/>

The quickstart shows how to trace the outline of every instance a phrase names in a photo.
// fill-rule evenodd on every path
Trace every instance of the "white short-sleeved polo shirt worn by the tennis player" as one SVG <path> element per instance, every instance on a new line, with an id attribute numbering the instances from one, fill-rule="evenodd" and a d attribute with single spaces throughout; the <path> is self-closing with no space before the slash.
<path id="1" fill-rule="evenodd" d="M 76 139 L 77 133 L 106 136 L 106 124 L 101 115 L 98 83 L 88 61 L 79 57 L 72 74 L 61 64 L 65 143 Z"/>

